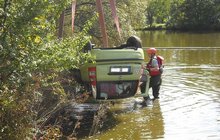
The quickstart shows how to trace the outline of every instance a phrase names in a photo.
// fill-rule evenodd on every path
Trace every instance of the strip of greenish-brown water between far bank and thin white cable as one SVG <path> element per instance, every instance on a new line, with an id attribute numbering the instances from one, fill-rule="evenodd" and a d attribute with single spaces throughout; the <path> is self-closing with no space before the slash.
<path id="1" fill-rule="evenodd" d="M 219 47 L 219 32 L 170 32 L 146 31 L 141 32 L 145 47 Z"/>

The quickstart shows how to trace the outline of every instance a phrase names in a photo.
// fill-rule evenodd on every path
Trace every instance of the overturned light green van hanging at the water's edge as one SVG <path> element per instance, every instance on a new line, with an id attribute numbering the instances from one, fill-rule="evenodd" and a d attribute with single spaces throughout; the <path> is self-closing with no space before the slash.
<path id="1" fill-rule="evenodd" d="M 129 39 L 119 47 L 90 48 L 87 52 L 94 56 L 95 63 L 80 67 L 80 81 L 95 99 L 123 99 L 136 94 L 144 52 L 138 39 Z"/>

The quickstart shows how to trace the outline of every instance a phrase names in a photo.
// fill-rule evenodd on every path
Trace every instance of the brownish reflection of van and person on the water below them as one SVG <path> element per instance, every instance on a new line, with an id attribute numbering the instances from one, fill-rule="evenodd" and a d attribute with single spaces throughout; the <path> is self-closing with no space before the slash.
<path id="1" fill-rule="evenodd" d="M 159 139 L 164 137 L 163 115 L 159 100 L 146 107 L 141 104 L 142 98 L 129 98 L 111 107 L 114 119 L 118 123 L 112 129 L 90 139 Z M 112 120 L 112 121 L 113 121 Z M 108 121 L 108 122 L 112 122 Z M 108 126 L 106 123 L 105 125 Z M 110 124 L 111 125 L 111 124 Z"/>

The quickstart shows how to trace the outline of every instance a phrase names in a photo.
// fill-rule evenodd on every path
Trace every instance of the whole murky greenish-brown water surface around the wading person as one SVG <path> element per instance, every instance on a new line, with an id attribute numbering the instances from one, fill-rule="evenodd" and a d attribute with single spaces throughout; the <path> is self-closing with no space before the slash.
<path id="1" fill-rule="evenodd" d="M 116 103 L 108 129 L 90 139 L 220 139 L 220 33 L 141 36 L 145 47 L 178 47 L 158 49 L 165 58 L 160 99 L 148 107 L 139 104 L 141 98 Z"/>

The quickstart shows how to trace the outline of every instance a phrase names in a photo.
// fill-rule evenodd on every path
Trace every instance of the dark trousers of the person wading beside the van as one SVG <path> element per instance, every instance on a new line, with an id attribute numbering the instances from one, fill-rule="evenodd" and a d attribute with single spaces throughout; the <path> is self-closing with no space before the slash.
<path id="1" fill-rule="evenodd" d="M 161 83 L 161 75 L 151 76 L 149 88 L 152 88 L 154 99 L 159 98 Z"/>

